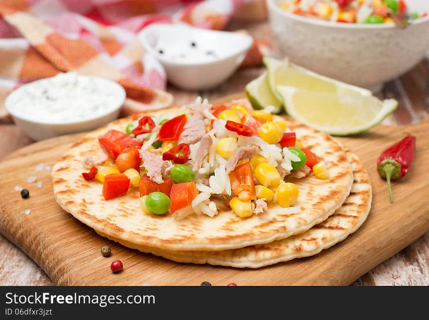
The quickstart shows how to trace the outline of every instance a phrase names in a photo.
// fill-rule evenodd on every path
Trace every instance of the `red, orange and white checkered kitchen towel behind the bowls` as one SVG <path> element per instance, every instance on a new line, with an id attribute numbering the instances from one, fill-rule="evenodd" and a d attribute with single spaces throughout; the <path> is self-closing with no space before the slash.
<path id="1" fill-rule="evenodd" d="M 249 1 L 249 0 L 247 0 Z M 0 118 L 8 92 L 76 70 L 120 83 L 126 113 L 171 103 L 162 66 L 136 34 L 154 22 L 220 30 L 246 0 L 0 0 Z M 245 60 L 260 63 L 254 45 Z"/>

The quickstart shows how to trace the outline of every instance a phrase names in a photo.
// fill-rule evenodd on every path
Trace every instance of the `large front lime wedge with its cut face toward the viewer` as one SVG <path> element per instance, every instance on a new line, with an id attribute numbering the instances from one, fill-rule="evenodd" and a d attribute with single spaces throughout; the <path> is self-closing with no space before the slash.
<path id="1" fill-rule="evenodd" d="M 364 132 L 392 113 L 398 102 L 372 95 L 319 92 L 277 86 L 286 112 L 295 120 L 332 135 Z"/>

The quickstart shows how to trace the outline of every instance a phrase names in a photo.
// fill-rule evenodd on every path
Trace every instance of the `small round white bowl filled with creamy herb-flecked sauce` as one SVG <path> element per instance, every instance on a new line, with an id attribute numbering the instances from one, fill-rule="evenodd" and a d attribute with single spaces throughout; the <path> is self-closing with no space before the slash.
<path id="1" fill-rule="evenodd" d="M 59 80 L 57 75 L 25 84 L 9 94 L 5 100 L 5 108 L 12 115 L 15 124 L 34 140 L 97 129 L 117 119 L 119 115 L 126 96 L 125 90 L 119 84 L 105 78 L 75 74 L 73 76 L 77 81 L 91 81 L 96 86 L 87 92 L 85 86 L 81 88 L 82 92 L 74 90 L 73 83 L 64 82 L 64 75 L 67 74 L 60 74 L 63 78 Z M 54 90 L 53 83 L 60 85 L 60 89 Z M 51 101 L 43 103 L 40 89 L 42 92 L 46 90 L 49 94 L 46 94 L 48 100 Z M 56 101 L 61 99 L 61 93 L 58 94 L 61 90 L 63 94 L 67 94 L 66 99 L 64 101 L 63 98 L 56 104 Z M 81 98 L 82 94 L 88 95 L 87 104 Z M 98 105 L 94 107 L 94 103 Z M 80 114 L 76 113 L 77 106 Z M 75 112 L 75 115 L 71 114 L 67 118 L 67 113 L 64 113 L 67 108 L 71 113 Z"/>

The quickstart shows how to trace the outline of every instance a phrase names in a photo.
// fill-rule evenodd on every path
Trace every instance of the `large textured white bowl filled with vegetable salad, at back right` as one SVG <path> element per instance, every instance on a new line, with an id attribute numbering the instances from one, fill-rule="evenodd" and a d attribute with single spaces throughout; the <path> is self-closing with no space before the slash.
<path id="1" fill-rule="evenodd" d="M 267 4 L 279 47 L 294 63 L 374 92 L 411 69 L 429 48 L 429 1 Z"/>

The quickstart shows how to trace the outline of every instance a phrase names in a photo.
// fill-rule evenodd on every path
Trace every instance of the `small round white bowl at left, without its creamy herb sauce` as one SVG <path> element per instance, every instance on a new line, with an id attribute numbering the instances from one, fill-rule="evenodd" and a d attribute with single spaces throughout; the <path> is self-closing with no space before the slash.
<path id="1" fill-rule="evenodd" d="M 78 77 L 86 76 L 78 75 Z M 14 101 L 16 101 L 16 98 L 19 95 L 25 92 L 26 86 L 30 86 L 36 82 L 39 84 L 47 84 L 47 81 L 49 81 L 50 78 L 33 81 L 13 91 L 6 97 L 5 108 L 7 112 L 12 115 L 15 124 L 20 127 L 20 129 L 22 129 L 25 134 L 34 140 L 43 140 L 63 134 L 97 129 L 98 127 L 101 127 L 117 119 L 120 108 L 125 101 L 126 94 L 125 90 L 114 81 L 100 77 L 93 78 L 96 78 L 97 81 L 102 84 L 103 89 L 108 90 L 110 93 L 112 93 L 112 96 L 114 96 L 112 100 L 112 107 L 106 111 L 100 112 L 98 115 L 89 115 L 87 118 L 81 121 L 52 121 L 52 119 L 49 121 L 39 120 L 34 119 L 26 114 L 22 114 L 21 112 L 17 112 Z M 26 97 L 22 96 L 21 98 L 25 99 Z"/>

